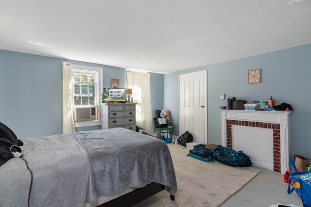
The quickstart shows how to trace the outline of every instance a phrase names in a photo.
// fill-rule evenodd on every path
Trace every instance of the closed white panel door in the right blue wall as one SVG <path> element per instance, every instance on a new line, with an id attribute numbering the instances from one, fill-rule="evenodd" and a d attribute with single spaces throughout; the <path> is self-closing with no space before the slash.
<path id="1" fill-rule="evenodd" d="M 207 144 L 207 71 L 179 75 L 179 135 Z"/>

